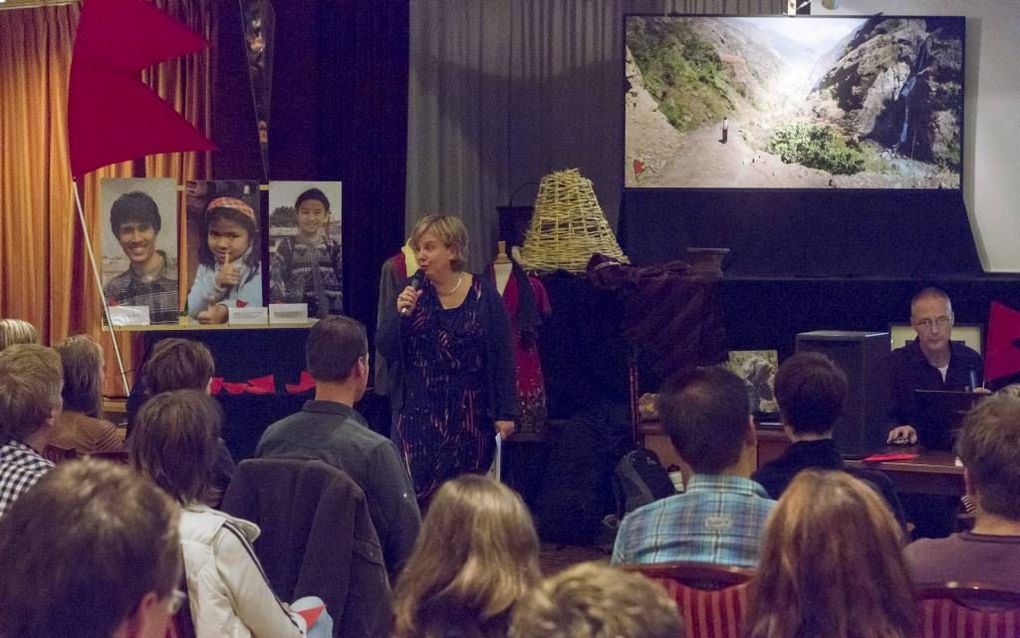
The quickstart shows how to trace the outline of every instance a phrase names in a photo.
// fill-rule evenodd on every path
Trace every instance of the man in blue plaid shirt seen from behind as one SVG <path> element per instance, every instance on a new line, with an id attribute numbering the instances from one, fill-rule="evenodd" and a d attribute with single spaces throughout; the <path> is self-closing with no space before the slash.
<path id="1" fill-rule="evenodd" d="M 658 407 L 694 476 L 684 493 L 623 519 L 612 561 L 757 567 L 775 501 L 751 480 L 758 451 L 744 381 L 720 367 L 684 371 L 663 385 Z"/>

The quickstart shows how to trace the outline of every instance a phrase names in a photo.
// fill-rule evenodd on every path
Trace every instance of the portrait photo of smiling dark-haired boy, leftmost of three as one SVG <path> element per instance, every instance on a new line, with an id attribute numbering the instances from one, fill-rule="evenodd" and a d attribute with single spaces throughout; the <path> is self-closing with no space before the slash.
<path id="1" fill-rule="evenodd" d="M 101 195 L 108 205 L 111 233 L 105 236 L 103 254 L 106 302 L 148 306 L 150 323 L 175 324 L 180 313 L 176 184 L 173 180 L 103 180 Z"/>

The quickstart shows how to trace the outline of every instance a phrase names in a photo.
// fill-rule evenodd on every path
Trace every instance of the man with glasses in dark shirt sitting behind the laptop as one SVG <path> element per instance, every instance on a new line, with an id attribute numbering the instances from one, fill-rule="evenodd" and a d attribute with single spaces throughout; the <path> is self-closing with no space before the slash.
<path id="1" fill-rule="evenodd" d="M 953 304 L 937 288 L 925 288 L 910 302 L 910 324 L 917 338 L 889 355 L 892 416 L 897 427 L 889 443 L 920 443 L 915 390 L 977 390 L 981 382 L 981 355 L 962 343 L 953 343 Z"/>

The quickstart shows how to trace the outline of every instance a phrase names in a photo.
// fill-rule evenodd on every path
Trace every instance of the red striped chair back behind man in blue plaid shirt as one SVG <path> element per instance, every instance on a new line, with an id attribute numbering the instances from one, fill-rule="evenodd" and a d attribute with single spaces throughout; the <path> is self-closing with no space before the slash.
<path id="1" fill-rule="evenodd" d="M 665 587 L 686 638 L 742 638 L 748 584 L 754 571 L 696 562 L 626 565 Z"/>

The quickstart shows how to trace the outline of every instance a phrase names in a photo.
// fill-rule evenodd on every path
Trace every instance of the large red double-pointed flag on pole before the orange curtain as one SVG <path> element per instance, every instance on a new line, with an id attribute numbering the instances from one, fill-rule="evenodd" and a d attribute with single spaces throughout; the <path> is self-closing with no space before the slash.
<path id="1" fill-rule="evenodd" d="M 140 77 L 143 68 L 208 44 L 146 0 L 84 3 L 67 100 L 71 174 L 153 153 L 215 148 Z"/>

